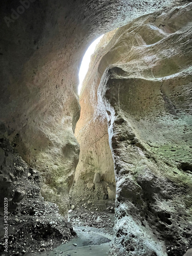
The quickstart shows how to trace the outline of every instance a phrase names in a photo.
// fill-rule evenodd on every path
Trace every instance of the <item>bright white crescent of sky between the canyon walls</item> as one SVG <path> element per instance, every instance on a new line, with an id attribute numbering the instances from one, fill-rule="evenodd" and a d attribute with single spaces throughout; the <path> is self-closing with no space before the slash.
<path id="1" fill-rule="evenodd" d="M 91 55 L 94 53 L 95 48 L 99 44 L 99 41 L 101 40 L 102 37 L 103 37 L 103 35 L 101 35 L 95 41 L 93 41 L 92 44 L 90 45 L 90 47 L 88 48 L 87 52 L 83 56 L 81 66 L 80 66 L 80 69 L 79 69 L 78 94 L 80 94 L 81 87 L 82 87 L 82 82 L 83 82 L 84 77 L 86 77 L 86 74 L 88 72 L 89 64 L 90 64 L 90 61 L 91 61 Z"/>

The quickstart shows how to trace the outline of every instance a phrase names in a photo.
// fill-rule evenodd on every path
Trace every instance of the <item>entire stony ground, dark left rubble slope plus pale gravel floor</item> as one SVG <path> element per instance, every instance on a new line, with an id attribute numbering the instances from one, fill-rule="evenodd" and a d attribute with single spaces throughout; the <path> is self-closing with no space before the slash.
<path id="1" fill-rule="evenodd" d="M 4 159 L 1 192 L 8 197 L 8 210 L 0 209 L 1 256 L 108 253 L 114 202 L 101 200 L 90 204 L 86 199 L 78 204 L 71 202 L 67 220 L 59 214 L 56 204 L 44 201 L 41 196 L 38 170 L 15 154 L 7 140 L 0 140 L 0 150 Z M 8 230 L 2 228 L 5 226 Z"/>

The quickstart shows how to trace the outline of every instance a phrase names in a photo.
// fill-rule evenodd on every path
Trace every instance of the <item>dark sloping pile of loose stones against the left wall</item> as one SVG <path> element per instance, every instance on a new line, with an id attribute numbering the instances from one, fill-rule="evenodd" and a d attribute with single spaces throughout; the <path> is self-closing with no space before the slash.
<path id="1" fill-rule="evenodd" d="M 52 249 L 76 233 L 61 215 L 58 206 L 45 202 L 40 194 L 40 174 L 14 153 L 5 139 L 0 141 L 1 205 L 8 199 L 8 253 L 4 233 L 0 234 L 1 255 L 22 255 Z M 4 222 L 4 209 L 0 209 Z"/>

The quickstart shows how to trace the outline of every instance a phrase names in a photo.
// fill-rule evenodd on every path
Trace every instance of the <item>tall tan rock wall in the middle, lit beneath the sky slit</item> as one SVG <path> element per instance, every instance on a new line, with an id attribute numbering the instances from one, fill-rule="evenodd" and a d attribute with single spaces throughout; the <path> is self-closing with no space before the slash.
<path id="1" fill-rule="evenodd" d="M 114 163 L 109 146 L 108 124 L 101 118 L 95 106 L 100 78 L 98 65 L 103 50 L 115 31 L 106 33 L 91 57 L 91 63 L 80 93 L 81 114 L 75 129 L 80 145 L 79 162 L 70 191 L 73 204 L 96 204 L 106 208 L 109 200 L 115 200 L 116 185 Z"/>

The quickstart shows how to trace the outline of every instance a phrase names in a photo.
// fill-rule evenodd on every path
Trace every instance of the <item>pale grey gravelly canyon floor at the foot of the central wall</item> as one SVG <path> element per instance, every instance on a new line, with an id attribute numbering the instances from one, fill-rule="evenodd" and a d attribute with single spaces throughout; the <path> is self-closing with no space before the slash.
<path id="1" fill-rule="evenodd" d="M 52 250 L 26 253 L 28 256 L 104 256 L 108 255 L 112 240 L 114 214 L 89 210 L 73 211 L 69 214 L 76 237 L 61 243 Z"/>

